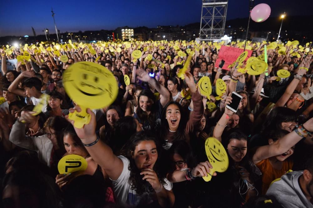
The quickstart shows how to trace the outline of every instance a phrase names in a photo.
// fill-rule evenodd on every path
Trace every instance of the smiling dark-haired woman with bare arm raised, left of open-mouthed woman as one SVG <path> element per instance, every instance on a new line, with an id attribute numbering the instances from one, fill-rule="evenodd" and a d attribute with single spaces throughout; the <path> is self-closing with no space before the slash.
<path id="1" fill-rule="evenodd" d="M 137 70 L 137 75 L 140 80 L 148 82 L 162 95 L 161 99 L 156 101 L 150 89 L 142 90 L 138 96 L 138 107 L 134 114 L 134 118 L 143 125 L 144 130 L 155 131 L 160 124 L 162 109 L 170 99 L 170 93 L 143 69 Z"/>

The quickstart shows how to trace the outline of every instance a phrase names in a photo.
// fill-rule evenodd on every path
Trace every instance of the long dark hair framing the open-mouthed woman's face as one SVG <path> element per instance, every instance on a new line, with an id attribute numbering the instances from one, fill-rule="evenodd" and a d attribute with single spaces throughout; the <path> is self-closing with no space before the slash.
<path id="1" fill-rule="evenodd" d="M 186 128 L 185 114 L 182 113 L 183 112 L 182 106 L 179 103 L 173 102 L 173 101 L 167 103 L 167 105 L 164 107 L 164 109 L 162 111 L 160 138 L 165 138 L 166 135 L 169 132 L 169 125 L 168 125 L 168 121 L 166 119 L 166 110 L 167 110 L 167 107 L 169 105 L 171 105 L 171 104 L 176 105 L 178 107 L 179 111 L 180 111 L 180 114 L 181 114 L 177 131 L 173 135 L 173 141 L 176 141 L 176 140 L 186 140 L 186 135 L 185 135 L 185 128 Z"/>

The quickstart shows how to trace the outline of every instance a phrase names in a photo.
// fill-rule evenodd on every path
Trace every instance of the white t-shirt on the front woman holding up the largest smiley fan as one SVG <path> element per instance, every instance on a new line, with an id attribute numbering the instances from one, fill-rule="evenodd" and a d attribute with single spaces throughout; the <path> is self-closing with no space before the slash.
<path id="1" fill-rule="evenodd" d="M 152 196 L 155 194 L 152 186 L 150 186 L 151 190 L 143 193 L 142 195 L 137 195 L 135 190 L 131 190 L 131 185 L 128 182 L 131 171 L 128 169 L 129 160 L 124 156 L 118 156 L 123 161 L 123 171 L 118 177 L 117 180 L 112 180 L 113 191 L 118 203 L 124 206 L 136 207 L 138 205 L 150 204 L 153 202 Z M 168 181 L 166 178 L 164 179 L 166 185 L 164 188 L 166 190 L 172 190 L 173 184 Z M 147 182 L 148 184 L 149 182 Z M 150 185 L 150 183 L 149 183 Z"/>

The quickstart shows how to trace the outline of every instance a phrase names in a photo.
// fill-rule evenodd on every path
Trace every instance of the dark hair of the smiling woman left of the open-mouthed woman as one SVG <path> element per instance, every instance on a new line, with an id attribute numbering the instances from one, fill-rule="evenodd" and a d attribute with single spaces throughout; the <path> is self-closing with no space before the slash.
<path id="1" fill-rule="evenodd" d="M 140 107 L 140 97 L 141 96 L 146 96 L 149 99 L 153 101 L 153 104 L 151 106 L 151 113 L 148 115 L 145 111 L 143 111 Z M 138 95 L 138 107 L 136 109 L 136 114 L 143 124 L 144 121 L 148 121 L 151 127 L 151 130 L 156 129 L 156 100 L 154 94 L 151 92 L 150 89 L 144 89 L 141 91 L 141 93 Z"/>

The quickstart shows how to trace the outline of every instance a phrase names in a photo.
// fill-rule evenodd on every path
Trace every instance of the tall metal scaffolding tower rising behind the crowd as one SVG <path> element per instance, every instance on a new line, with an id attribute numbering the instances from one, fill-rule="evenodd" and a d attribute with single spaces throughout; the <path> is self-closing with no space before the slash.
<path id="1" fill-rule="evenodd" d="M 224 36 L 228 0 L 202 0 L 200 41 L 219 40 Z"/>

